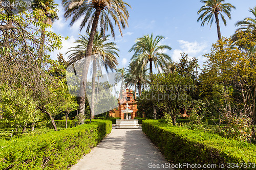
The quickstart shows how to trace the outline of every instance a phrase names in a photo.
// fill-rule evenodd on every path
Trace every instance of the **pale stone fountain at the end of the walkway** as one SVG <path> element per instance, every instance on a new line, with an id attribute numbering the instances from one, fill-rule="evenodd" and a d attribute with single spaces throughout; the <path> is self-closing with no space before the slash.
<path id="1" fill-rule="evenodd" d="M 130 116 L 133 110 L 129 109 L 128 103 L 126 103 L 125 109 L 121 112 L 124 113 L 125 119 L 117 119 L 116 120 L 116 128 L 139 128 L 139 120 L 131 119 Z"/>

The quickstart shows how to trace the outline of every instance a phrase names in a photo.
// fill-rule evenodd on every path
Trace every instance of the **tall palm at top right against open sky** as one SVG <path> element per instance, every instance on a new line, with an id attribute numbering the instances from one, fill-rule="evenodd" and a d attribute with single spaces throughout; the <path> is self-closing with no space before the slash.
<path id="1" fill-rule="evenodd" d="M 204 6 L 200 8 L 200 10 L 197 12 L 197 14 L 203 12 L 197 21 L 201 20 L 201 27 L 204 26 L 205 22 L 207 21 L 207 25 L 210 22 L 210 27 L 212 25 L 212 22 L 214 21 L 214 18 L 216 20 L 217 24 L 217 33 L 219 40 L 221 39 L 221 30 L 220 30 L 220 21 L 218 15 L 220 14 L 224 25 L 226 26 L 226 19 L 224 18 L 222 12 L 227 15 L 229 19 L 231 19 L 230 11 L 232 8 L 236 9 L 236 7 L 232 6 L 229 3 L 224 3 L 225 0 L 206 0 L 206 1 L 200 1 L 204 3 Z"/>

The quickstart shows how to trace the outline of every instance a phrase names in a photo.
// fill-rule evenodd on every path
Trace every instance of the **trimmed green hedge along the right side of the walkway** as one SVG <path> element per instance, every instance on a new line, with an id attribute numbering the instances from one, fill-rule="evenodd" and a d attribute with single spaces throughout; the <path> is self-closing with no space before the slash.
<path id="1" fill-rule="evenodd" d="M 222 138 L 219 135 L 188 130 L 159 123 L 157 120 L 144 120 L 142 131 L 174 163 L 227 164 L 256 163 L 256 145 Z M 217 167 L 218 168 L 218 167 Z M 226 167 L 227 169 L 227 167 Z M 237 168 L 237 169 L 253 169 Z"/>

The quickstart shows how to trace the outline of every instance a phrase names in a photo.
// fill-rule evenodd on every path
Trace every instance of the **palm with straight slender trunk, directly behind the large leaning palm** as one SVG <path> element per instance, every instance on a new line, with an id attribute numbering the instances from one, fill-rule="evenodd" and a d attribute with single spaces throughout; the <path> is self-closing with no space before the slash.
<path id="1" fill-rule="evenodd" d="M 81 58 L 83 58 L 83 54 L 86 53 L 86 47 L 88 46 L 89 36 L 80 35 L 79 39 L 75 41 L 78 45 L 71 47 L 70 51 L 67 53 L 72 53 L 69 55 L 69 62 L 75 62 Z M 93 71 L 92 71 L 92 96 L 91 96 L 91 118 L 94 117 L 94 105 L 95 105 L 95 78 L 97 70 L 101 70 L 101 67 L 106 69 L 106 72 L 116 70 L 116 65 L 118 65 L 118 61 L 116 56 L 118 56 L 119 50 L 116 47 L 115 42 L 109 42 L 108 37 L 110 35 L 103 36 L 99 34 L 97 31 L 94 36 L 92 55 L 96 55 L 93 57 Z M 66 53 L 66 54 L 67 54 Z"/>

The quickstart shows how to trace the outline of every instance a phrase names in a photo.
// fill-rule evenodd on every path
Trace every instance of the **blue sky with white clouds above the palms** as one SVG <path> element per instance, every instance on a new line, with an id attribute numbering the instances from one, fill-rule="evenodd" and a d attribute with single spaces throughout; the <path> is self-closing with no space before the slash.
<path id="1" fill-rule="evenodd" d="M 86 0 L 87 1 L 87 0 Z M 153 36 L 161 35 L 165 39 L 160 41 L 160 44 L 169 45 L 172 50 L 166 53 L 173 61 L 178 62 L 180 53 L 186 53 L 189 57 L 198 58 L 198 62 L 202 67 L 206 61 L 204 54 L 210 53 L 211 44 L 218 40 L 216 23 L 204 25 L 201 27 L 201 22 L 197 22 L 199 15 L 197 11 L 203 6 L 199 0 L 123 0 L 131 5 L 129 9 L 130 17 L 128 19 L 129 27 L 122 30 L 123 36 L 120 35 L 118 27 L 115 29 L 116 37 L 111 38 L 116 42 L 119 48 L 118 68 L 125 67 L 131 61 L 133 52 L 129 53 L 130 48 L 135 44 L 137 38 L 143 35 L 152 34 Z M 53 23 L 50 31 L 56 34 L 61 34 L 62 37 L 69 37 L 68 40 L 63 38 L 61 50 L 56 50 L 51 53 L 52 59 L 57 59 L 57 54 L 62 53 L 65 59 L 68 58 L 68 48 L 75 46 L 74 41 L 79 34 L 86 34 L 86 28 L 79 32 L 80 18 L 73 27 L 69 26 L 70 20 L 63 18 L 63 8 L 61 1 L 55 0 L 59 4 L 59 20 Z M 237 27 L 234 24 L 243 20 L 245 17 L 253 17 L 248 11 L 249 8 L 256 6 L 255 0 L 226 0 L 225 3 L 230 3 L 236 7 L 231 10 L 231 20 L 227 20 L 227 26 L 224 26 L 220 20 L 220 29 L 223 37 L 230 37 Z M 224 15 L 225 16 L 225 15 Z M 110 34 L 106 32 L 106 34 Z"/>

